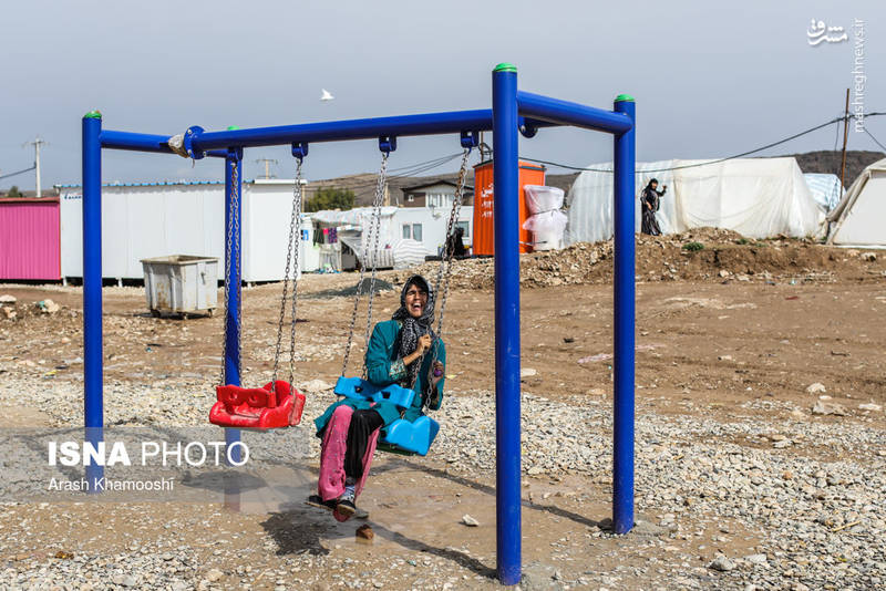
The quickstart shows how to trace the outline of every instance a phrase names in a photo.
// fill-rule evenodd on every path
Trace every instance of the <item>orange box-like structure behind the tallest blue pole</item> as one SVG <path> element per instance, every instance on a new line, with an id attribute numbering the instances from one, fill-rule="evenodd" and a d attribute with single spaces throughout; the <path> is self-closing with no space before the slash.
<path id="1" fill-rule="evenodd" d="M 529 216 L 526 199 L 523 196 L 523 187 L 526 185 L 544 185 L 545 167 L 540 164 L 521 162 L 517 183 L 519 193 L 514 195 L 514 198 L 519 204 L 519 251 L 528 252 L 532 250 L 528 246 L 532 235 L 529 230 L 523 229 L 523 222 Z M 494 203 L 492 160 L 490 160 L 474 167 L 474 238 L 472 240 L 474 255 L 495 253 L 493 234 L 495 229 L 493 220 Z"/>

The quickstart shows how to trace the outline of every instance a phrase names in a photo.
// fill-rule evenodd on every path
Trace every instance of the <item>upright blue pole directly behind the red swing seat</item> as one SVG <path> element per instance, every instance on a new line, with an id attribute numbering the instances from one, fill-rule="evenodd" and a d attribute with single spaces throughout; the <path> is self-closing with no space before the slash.
<path id="1" fill-rule="evenodd" d="M 236 194 L 235 194 L 236 191 Z M 237 197 L 231 209 L 231 200 Z M 225 159 L 225 267 L 228 270 L 225 280 L 228 286 L 228 299 L 225 315 L 225 383 L 240 385 L 240 261 L 241 251 L 241 215 L 243 215 L 243 151 L 229 149 Z M 230 245 L 228 245 L 230 240 Z M 240 429 L 226 428 L 225 443 L 228 448 L 240 440 Z M 240 446 L 231 454 L 234 462 L 240 462 Z"/>

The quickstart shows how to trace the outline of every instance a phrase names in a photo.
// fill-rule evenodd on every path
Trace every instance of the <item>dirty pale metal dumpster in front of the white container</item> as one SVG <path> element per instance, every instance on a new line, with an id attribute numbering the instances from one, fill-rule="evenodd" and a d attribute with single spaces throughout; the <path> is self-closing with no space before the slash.
<path id="1" fill-rule="evenodd" d="M 142 259 L 147 309 L 154 317 L 163 312 L 208 313 L 218 307 L 218 259 L 173 255 Z"/>

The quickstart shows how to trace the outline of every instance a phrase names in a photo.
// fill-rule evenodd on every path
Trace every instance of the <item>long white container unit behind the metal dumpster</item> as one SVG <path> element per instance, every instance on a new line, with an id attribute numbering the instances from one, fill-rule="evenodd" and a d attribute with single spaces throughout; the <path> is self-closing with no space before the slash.
<path id="1" fill-rule="evenodd" d="M 292 180 L 243 184 L 243 261 L 246 282 L 280 281 L 286 269 Z M 83 277 L 82 188 L 60 186 L 61 274 Z M 315 270 L 319 255 L 312 225 L 302 215 L 299 272 Z M 307 238 L 306 238 L 307 237 Z M 220 182 L 142 183 L 102 188 L 102 277 L 142 279 L 141 260 L 181 252 L 217 258 L 224 274 L 225 185 Z M 311 267 L 313 266 L 313 267 Z"/>

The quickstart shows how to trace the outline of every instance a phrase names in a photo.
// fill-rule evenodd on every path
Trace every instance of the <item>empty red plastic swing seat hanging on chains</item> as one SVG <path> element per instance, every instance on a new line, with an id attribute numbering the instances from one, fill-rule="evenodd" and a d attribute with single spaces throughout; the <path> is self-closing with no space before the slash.
<path id="1" fill-rule="evenodd" d="M 262 387 L 216 386 L 218 402 L 209 411 L 209 423 L 223 427 L 270 429 L 301 423 L 305 394 L 277 380 Z"/>

